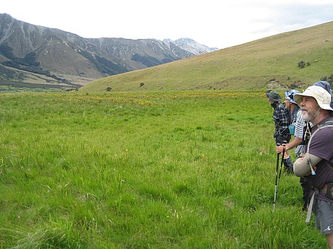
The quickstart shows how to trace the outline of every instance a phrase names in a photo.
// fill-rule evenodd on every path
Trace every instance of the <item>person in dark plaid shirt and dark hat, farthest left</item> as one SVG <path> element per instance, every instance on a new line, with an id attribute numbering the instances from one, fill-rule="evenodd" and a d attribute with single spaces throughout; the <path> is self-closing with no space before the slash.
<path id="1" fill-rule="evenodd" d="M 291 137 L 289 132 L 289 111 L 285 108 L 285 105 L 280 103 L 282 98 L 277 91 L 268 90 L 266 91 L 266 96 L 268 97 L 268 102 L 271 104 L 271 107 L 274 109 L 273 120 L 275 125 L 275 144 L 287 144 Z M 283 165 L 285 166 L 285 170 L 289 172 L 290 170 L 293 170 L 293 161 L 291 161 L 291 158 L 286 153 L 283 158 Z"/>

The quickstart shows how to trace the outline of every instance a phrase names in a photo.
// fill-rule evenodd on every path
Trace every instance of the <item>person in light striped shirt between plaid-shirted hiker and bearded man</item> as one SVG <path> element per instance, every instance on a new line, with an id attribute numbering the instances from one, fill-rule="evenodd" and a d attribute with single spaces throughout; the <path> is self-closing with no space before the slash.
<path id="1" fill-rule="evenodd" d="M 285 149 L 285 153 L 289 151 L 290 149 L 295 149 L 295 156 L 300 156 L 302 154 L 304 145 L 302 145 L 302 137 L 303 137 L 303 129 L 305 127 L 305 121 L 302 119 L 302 115 L 300 112 L 300 107 L 297 105 L 297 103 L 294 100 L 294 95 L 296 93 L 300 93 L 299 91 L 290 90 L 285 91 L 285 107 L 290 110 L 293 117 L 292 126 L 294 126 L 294 132 L 291 132 L 293 129 L 290 129 L 290 134 L 294 135 L 293 141 L 291 141 L 289 144 L 283 144 L 281 146 L 276 146 L 275 150 L 276 153 L 281 154 L 283 152 L 283 146 Z M 307 209 L 307 204 L 309 200 L 309 194 L 311 190 L 310 184 L 307 182 L 307 178 L 300 178 L 300 185 L 302 187 L 303 192 L 303 211 Z"/>

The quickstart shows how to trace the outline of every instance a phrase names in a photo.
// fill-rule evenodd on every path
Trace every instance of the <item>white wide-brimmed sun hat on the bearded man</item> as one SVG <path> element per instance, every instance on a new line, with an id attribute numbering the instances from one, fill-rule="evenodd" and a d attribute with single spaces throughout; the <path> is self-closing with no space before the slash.
<path id="1" fill-rule="evenodd" d="M 294 95 L 294 100 L 298 105 L 302 102 L 302 96 L 313 97 L 317 100 L 320 108 L 325 110 L 333 110 L 330 107 L 331 95 L 320 86 L 309 86 L 304 93 L 296 93 Z"/>

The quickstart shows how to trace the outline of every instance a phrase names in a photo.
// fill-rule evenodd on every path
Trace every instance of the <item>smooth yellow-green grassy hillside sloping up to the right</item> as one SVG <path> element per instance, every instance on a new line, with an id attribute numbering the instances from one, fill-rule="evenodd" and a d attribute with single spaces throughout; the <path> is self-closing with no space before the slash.
<path id="1" fill-rule="evenodd" d="M 92 81 L 80 91 L 258 89 L 305 86 L 333 74 L 333 22 Z M 310 63 L 305 68 L 298 62 Z"/>

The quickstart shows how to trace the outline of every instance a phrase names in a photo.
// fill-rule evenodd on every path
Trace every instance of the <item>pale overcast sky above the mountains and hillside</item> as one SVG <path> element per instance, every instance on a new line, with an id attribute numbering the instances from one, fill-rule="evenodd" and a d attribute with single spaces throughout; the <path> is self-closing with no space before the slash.
<path id="1" fill-rule="evenodd" d="M 190 37 L 224 48 L 333 21 L 333 1 L 9 0 L 0 13 L 86 38 Z"/>

